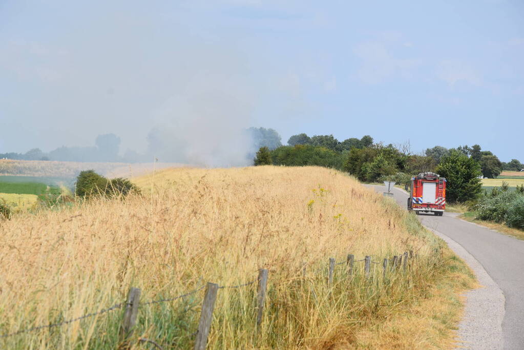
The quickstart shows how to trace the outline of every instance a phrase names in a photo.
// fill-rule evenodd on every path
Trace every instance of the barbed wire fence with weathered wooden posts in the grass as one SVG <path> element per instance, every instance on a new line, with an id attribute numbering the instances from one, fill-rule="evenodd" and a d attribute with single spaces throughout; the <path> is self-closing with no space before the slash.
<path id="1" fill-rule="evenodd" d="M 329 268 L 328 268 L 328 276 L 327 276 L 328 286 L 331 287 L 333 284 L 334 268 L 337 265 L 344 265 L 344 264 L 347 265 L 347 274 L 350 277 L 353 277 L 354 263 L 360 263 L 364 261 L 364 275 L 367 280 L 370 278 L 369 276 L 370 275 L 370 266 L 372 264 L 382 265 L 383 278 L 384 280 L 386 280 L 388 270 L 395 270 L 395 269 L 399 269 L 400 267 L 402 267 L 403 271 L 406 272 L 409 266 L 408 261 L 414 257 L 416 256 L 413 255 L 413 251 L 409 250 L 409 252 L 406 251 L 405 253 L 393 256 L 392 258 L 384 258 L 382 262 L 372 261 L 371 256 L 365 256 L 363 259 L 355 260 L 352 254 L 347 255 L 346 261 L 341 261 L 340 263 L 335 263 L 335 258 L 329 258 Z M 306 265 L 304 264 L 302 268 L 303 278 L 305 278 L 306 274 L 307 274 L 307 268 L 306 268 Z M 191 337 L 196 335 L 194 349 L 205 349 L 207 342 L 208 342 L 209 332 L 211 330 L 211 323 L 213 320 L 213 310 L 214 310 L 214 305 L 215 305 L 218 290 L 220 289 L 238 289 L 238 288 L 254 285 L 255 282 L 258 282 L 257 284 L 257 305 L 256 305 L 256 311 L 257 311 L 256 312 L 256 326 L 258 330 L 263 321 L 264 304 L 265 304 L 266 292 L 267 292 L 267 281 L 268 281 L 268 270 L 260 269 L 257 279 L 254 279 L 252 281 L 245 282 L 239 285 L 219 286 L 216 283 L 207 282 L 205 285 L 202 285 L 201 287 L 196 288 L 187 293 L 180 294 L 179 296 L 167 298 L 167 299 L 151 300 L 148 302 L 140 302 L 141 290 L 139 288 L 130 288 L 128 292 L 128 296 L 127 296 L 127 301 L 125 302 L 117 303 L 109 308 L 101 309 L 95 312 L 90 312 L 90 313 L 84 314 L 82 316 L 78 316 L 77 318 L 73 318 L 70 320 L 43 324 L 40 326 L 34 326 L 34 327 L 28 327 L 25 329 L 21 329 L 16 332 L 12 332 L 12 333 L 0 334 L 0 339 L 17 336 L 17 335 L 24 334 L 24 333 L 35 332 L 35 331 L 39 331 L 43 329 L 52 329 L 52 328 L 60 327 L 63 325 L 69 325 L 73 322 L 79 322 L 84 319 L 92 318 L 94 316 L 98 316 L 102 314 L 108 314 L 111 311 L 124 308 L 125 312 L 124 312 L 124 316 L 123 316 L 123 320 L 122 320 L 122 324 L 120 328 L 119 337 L 121 338 L 122 344 L 128 344 L 129 339 L 133 334 L 134 327 L 136 325 L 136 321 L 138 318 L 138 309 L 140 307 L 144 307 L 146 305 L 153 305 L 153 304 L 160 304 L 160 303 L 165 303 L 165 302 L 176 301 L 176 300 L 179 300 L 185 297 L 192 296 L 193 294 L 196 294 L 205 288 L 198 329 L 196 330 L 196 332 L 193 332 L 190 334 Z M 149 340 L 147 338 L 139 338 L 137 341 L 140 344 L 149 343 L 149 344 L 154 345 L 155 348 L 162 349 L 162 346 L 154 340 Z"/>

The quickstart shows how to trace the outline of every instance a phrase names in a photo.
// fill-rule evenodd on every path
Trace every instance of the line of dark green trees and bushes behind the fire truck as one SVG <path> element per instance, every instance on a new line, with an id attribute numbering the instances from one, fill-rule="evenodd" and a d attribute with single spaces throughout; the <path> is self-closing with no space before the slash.
<path id="1" fill-rule="evenodd" d="M 450 202 L 466 202 L 482 192 L 480 178 L 497 177 L 503 170 L 524 168 L 517 159 L 501 162 L 481 146 L 447 149 L 435 146 L 412 154 L 409 143 L 394 146 L 374 143 L 371 136 L 339 141 L 333 135 L 293 135 L 287 146 L 261 146 L 255 156 L 258 165 L 323 166 L 339 169 L 364 182 L 392 180 L 408 184 L 421 172 L 437 172 L 448 180 Z"/>

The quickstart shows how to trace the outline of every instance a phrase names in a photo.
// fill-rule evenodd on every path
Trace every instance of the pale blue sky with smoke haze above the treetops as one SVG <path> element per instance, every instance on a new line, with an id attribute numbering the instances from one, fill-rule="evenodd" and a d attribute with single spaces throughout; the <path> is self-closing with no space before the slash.
<path id="1" fill-rule="evenodd" d="M 264 126 L 524 161 L 522 62 L 522 1 L 3 1 L 0 152 Z"/>

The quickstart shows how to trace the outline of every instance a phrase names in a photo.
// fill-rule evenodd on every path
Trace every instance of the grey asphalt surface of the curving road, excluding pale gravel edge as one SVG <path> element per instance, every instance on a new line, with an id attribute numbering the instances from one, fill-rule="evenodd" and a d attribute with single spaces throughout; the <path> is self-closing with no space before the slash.
<path id="1" fill-rule="evenodd" d="M 380 186 L 373 188 L 377 192 L 384 190 Z M 406 208 L 408 194 L 399 189 L 393 192 L 397 203 Z M 430 213 L 418 215 L 424 226 L 446 235 L 470 253 L 503 291 L 506 302 L 502 321 L 503 344 L 500 347 L 524 349 L 524 241 L 468 223 L 456 216 L 453 213 L 444 213 L 443 216 Z M 489 300 L 475 307 L 489 308 L 487 303 Z"/>

